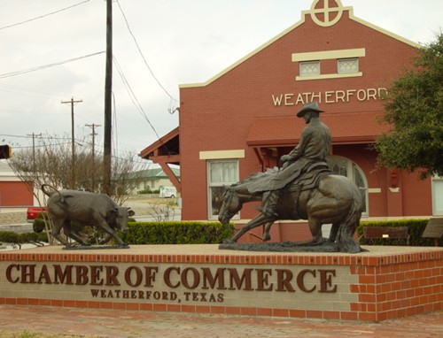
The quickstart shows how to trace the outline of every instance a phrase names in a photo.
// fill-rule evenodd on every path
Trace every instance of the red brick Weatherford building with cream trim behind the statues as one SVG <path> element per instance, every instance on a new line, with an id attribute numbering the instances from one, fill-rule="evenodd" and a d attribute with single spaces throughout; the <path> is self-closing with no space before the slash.
<path id="1" fill-rule="evenodd" d="M 278 165 L 305 127 L 295 113 L 317 101 L 332 134 L 330 165 L 361 188 L 364 219 L 441 215 L 442 181 L 377 168 L 371 150 L 386 130 L 377 122 L 386 88 L 417 47 L 354 17 L 339 0 L 315 0 L 299 22 L 245 58 L 204 83 L 180 86 L 179 127 L 140 156 L 165 172 L 168 163 L 181 166 L 181 180 L 171 181 L 182 193 L 183 220 L 216 219 L 217 189 Z M 243 224 L 256 212 L 245 204 L 234 221 Z M 277 241 L 308 236 L 303 224 L 277 225 Z"/>

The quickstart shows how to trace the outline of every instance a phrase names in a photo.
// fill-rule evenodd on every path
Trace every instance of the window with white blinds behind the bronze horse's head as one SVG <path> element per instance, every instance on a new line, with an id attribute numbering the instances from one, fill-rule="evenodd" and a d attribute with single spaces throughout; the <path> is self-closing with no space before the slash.
<path id="1" fill-rule="evenodd" d="M 229 186 L 238 181 L 238 160 L 207 161 L 208 186 L 208 218 L 217 219 L 223 186 Z"/>

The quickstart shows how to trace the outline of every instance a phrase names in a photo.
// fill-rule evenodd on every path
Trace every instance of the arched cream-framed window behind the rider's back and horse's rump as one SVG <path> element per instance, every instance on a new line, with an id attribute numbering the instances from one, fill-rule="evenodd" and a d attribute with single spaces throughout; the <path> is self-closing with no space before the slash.
<path id="1" fill-rule="evenodd" d="M 368 182 L 360 167 L 346 157 L 330 156 L 328 164 L 332 172 L 338 175 L 346 176 L 349 180 L 354 181 L 360 189 L 363 201 L 362 216 L 369 216 L 368 212 Z"/>

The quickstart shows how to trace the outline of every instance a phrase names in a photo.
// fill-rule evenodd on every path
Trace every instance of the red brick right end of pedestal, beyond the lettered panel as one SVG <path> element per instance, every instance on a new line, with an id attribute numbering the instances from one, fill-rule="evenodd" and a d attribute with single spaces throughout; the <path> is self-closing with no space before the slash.
<path id="1" fill-rule="evenodd" d="M 440 311 L 443 304 L 443 257 L 438 252 L 369 258 L 354 266 L 359 303 L 351 304 L 354 319 L 382 321 Z"/>

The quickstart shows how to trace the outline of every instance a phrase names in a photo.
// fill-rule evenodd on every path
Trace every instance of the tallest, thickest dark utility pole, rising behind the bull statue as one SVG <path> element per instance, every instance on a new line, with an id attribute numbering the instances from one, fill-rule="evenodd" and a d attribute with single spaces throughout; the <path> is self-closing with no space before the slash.
<path id="1" fill-rule="evenodd" d="M 106 0 L 106 69 L 105 69 L 105 142 L 103 158 L 103 189 L 112 195 L 112 114 L 113 114 L 113 0 Z"/>

